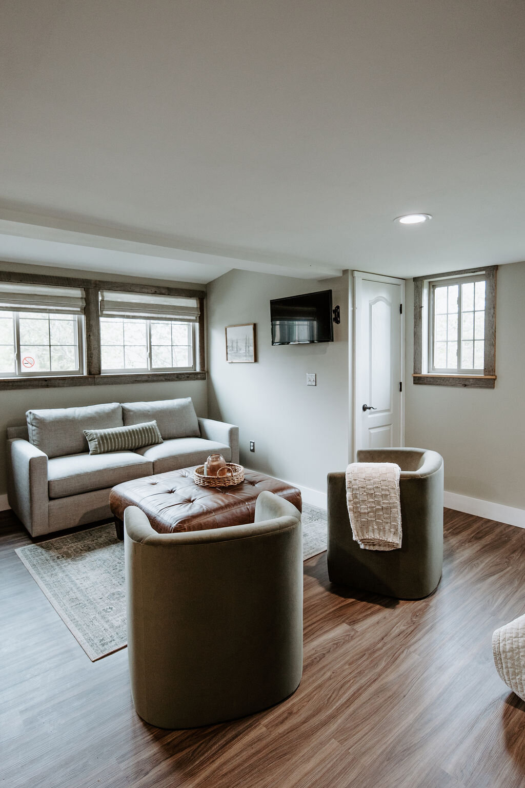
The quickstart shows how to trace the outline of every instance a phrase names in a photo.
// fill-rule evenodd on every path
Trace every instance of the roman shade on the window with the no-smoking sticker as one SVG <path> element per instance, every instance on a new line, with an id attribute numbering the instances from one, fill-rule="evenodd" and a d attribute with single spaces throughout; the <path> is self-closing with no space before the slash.
<path id="1" fill-rule="evenodd" d="M 83 314 L 83 288 L 59 288 L 50 284 L 0 282 L 0 309 L 16 312 L 67 312 Z"/>

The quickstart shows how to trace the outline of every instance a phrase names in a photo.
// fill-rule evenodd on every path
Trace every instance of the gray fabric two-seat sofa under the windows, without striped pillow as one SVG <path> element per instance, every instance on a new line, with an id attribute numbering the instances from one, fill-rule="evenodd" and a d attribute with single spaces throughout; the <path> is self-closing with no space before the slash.
<path id="1" fill-rule="evenodd" d="M 9 427 L 8 500 L 31 536 L 111 517 L 109 491 L 121 481 L 205 462 L 220 452 L 238 463 L 238 427 L 198 418 L 190 397 L 28 411 Z M 163 443 L 90 455 L 84 429 L 157 421 Z"/>

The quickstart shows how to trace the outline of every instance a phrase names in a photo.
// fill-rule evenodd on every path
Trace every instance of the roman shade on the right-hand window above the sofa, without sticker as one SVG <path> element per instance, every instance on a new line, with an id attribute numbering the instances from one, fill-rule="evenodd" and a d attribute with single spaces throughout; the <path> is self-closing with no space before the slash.
<path id="1" fill-rule="evenodd" d="M 187 323 L 197 322 L 200 310 L 196 298 L 102 290 L 100 314 L 103 318 L 150 318 Z"/>

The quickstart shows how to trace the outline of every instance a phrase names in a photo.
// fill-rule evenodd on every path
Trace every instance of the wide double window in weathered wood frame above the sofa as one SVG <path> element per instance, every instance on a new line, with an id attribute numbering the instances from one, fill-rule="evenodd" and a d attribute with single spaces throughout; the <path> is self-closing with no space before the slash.
<path id="1" fill-rule="evenodd" d="M 187 288 L 0 270 L 0 391 L 205 381 L 204 299 Z"/>

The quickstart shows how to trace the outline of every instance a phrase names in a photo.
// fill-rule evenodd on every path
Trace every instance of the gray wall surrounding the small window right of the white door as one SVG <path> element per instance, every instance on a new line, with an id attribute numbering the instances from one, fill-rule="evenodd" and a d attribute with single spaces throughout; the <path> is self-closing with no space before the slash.
<path id="1" fill-rule="evenodd" d="M 525 508 L 525 262 L 500 266 L 496 388 L 412 384 L 413 287 L 407 282 L 406 444 L 445 459 L 445 489 Z"/>

